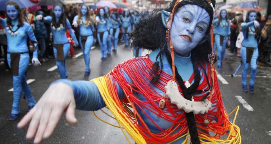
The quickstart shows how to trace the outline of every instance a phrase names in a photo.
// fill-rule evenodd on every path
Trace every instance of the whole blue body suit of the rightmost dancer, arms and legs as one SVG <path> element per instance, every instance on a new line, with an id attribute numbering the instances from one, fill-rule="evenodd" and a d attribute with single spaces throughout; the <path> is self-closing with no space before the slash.
<path id="1" fill-rule="evenodd" d="M 257 39 L 255 38 L 255 28 L 254 28 L 254 21 L 251 22 L 243 22 L 241 24 L 242 32 L 244 34 L 244 41 L 242 42 L 241 47 L 241 58 L 242 58 L 242 84 L 247 85 L 247 74 L 248 74 L 248 67 L 249 61 L 247 62 L 247 47 L 253 48 L 253 55 L 251 57 L 250 66 L 250 81 L 249 85 L 254 85 L 255 77 L 257 74 L 257 58 L 259 55 L 258 52 L 258 43 Z M 248 38 L 246 37 L 246 33 L 248 32 Z"/>

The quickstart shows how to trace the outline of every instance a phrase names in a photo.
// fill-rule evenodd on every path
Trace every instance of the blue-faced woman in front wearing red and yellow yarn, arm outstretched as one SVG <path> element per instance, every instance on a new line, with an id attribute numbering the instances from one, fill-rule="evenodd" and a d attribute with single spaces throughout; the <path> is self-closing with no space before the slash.
<path id="1" fill-rule="evenodd" d="M 213 4 L 173 1 L 131 35 L 133 45 L 154 50 L 150 55 L 125 61 L 92 81 L 54 82 L 18 123 L 23 128 L 31 121 L 26 139 L 49 138 L 64 110 L 67 121 L 76 124 L 75 107 L 107 105 L 117 127 L 139 144 L 240 144 L 240 129 L 228 118 L 213 66 Z"/>

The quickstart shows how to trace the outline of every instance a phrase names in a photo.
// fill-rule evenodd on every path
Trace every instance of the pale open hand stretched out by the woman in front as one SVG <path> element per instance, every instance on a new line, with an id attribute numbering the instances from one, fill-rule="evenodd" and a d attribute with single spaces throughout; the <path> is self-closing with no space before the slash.
<path id="1" fill-rule="evenodd" d="M 17 127 L 23 128 L 30 123 L 26 139 L 31 140 L 35 137 L 34 143 L 41 143 L 43 139 L 51 137 L 64 111 L 67 121 L 73 125 L 77 124 L 73 89 L 63 82 L 58 82 L 45 91 Z"/>

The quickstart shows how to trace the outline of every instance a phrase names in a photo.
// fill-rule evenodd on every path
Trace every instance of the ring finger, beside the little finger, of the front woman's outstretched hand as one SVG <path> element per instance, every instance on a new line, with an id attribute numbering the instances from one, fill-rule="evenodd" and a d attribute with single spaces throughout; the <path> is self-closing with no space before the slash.
<path id="1" fill-rule="evenodd" d="M 40 121 L 41 115 L 42 115 L 42 109 L 39 108 L 36 111 L 36 113 L 34 114 L 32 120 L 30 122 L 29 128 L 27 130 L 27 134 L 26 134 L 26 139 L 27 140 L 31 140 L 35 136 L 36 130 L 37 130 L 38 126 L 39 126 L 39 121 Z"/>

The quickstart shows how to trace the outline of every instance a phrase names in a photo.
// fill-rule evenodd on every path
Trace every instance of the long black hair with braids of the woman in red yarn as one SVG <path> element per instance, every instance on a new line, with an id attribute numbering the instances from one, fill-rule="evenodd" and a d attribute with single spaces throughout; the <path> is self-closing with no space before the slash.
<path id="1" fill-rule="evenodd" d="M 170 8 L 166 9 L 166 11 L 172 12 L 176 1 L 177 0 L 174 0 L 173 2 L 171 2 Z M 198 44 L 191 52 L 191 60 L 193 64 L 194 74 L 195 74 L 194 83 L 191 85 L 191 87 L 189 88 L 185 87 L 182 77 L 179 75 L 177 67 L 175 67 L 176 79 L 179 83 L 180 88 L 182 89 L 184 98 L 191 101 L 192 94 L 197 92 L 196 89 L 198 88 L 200 80 L 201 80 L 200 71 L 198 70 L 198 64 L 201 65 L 202 63 L 208 62 L 208 54 L 211 53 L 210 29 L 211 29 L 211 25 L 213 21 L 213 8 L 210 6 L 208 1 L 206 0 L 197 0 L 197 1 L 183 0 L 176 6 L 174 13 L 176 13 L 176 11 L 179 10 L 179 8 L 185 4 L 198 5 L 204 8 L 210 16 L 209 26 L 205 34 L 206 36 L 208 36 L 209 39 L 207 39 L 202 44 Z M 212 4 L 214 6 L 215 1 L 212 1 Z M 174 20 L 174 16 L 173 16 L 173 20 Z M 145 19 L 139 22 L 134 32 L 132 32 L 131 34 L 133 46 L 139 46 L 139 47 L 143 47 L 149 50 L 155 50 L 155 49 L 160 48 L 160 52 L 156 56 L 156 62 L 153 64 L 152 70 L 151 70 L 152 79 L 150 81 L 152 84 L 155 84 L 160 79 L 160 74 L 162 73 L 162 70 L 163 70 L 163 61 L 162 61 L 161 55 L 165 54 L 169 64 L 170 65 L 172 64 L 170 52 L 167 49 L 168 41 L 166 39 L 166 30 L 167 29 L 164 27 L 162 23 L 161 13 L 158 13 L 154 16 L 151 16 L 149 19 Z M 159 62 L 157 60 L 158 58 L 160 59 L 160 65 L 161 65 L 160 72 L 158 72 L 159 70 Z M 209 89 L 210 89 L 210 86 L 209 86 Z M 209 92 L 207 92 L 204 98 L 207 98 L 208 95 L 209 95 Z M 190 113 L 185 113 L 185 114 L 186 114 L 189 134 L 191 136 L 191 142 L 193 144 L 200 144 L 194 113 L 190 112 Z"/>

